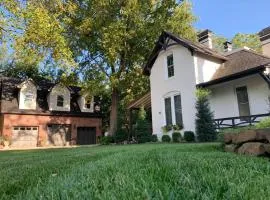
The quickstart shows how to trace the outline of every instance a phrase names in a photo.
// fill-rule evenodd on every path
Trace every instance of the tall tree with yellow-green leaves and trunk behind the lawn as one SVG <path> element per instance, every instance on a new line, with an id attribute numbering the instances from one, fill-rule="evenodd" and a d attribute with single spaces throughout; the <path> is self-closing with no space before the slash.
<path id="1" fill-rule="evenodd" d="M 40 62 L 49 55 L 60 65 L 78 64 L 83 72 L 98 70 L 106 77 L 112 135 L 123 80 L 135 66 L 143 65 L 161 31 L 196 39 L 192 7 L 183 0 L 3 1 L 10 12 L 24 19 L 24 31 L 16 38 L 22 58 Z"/>

